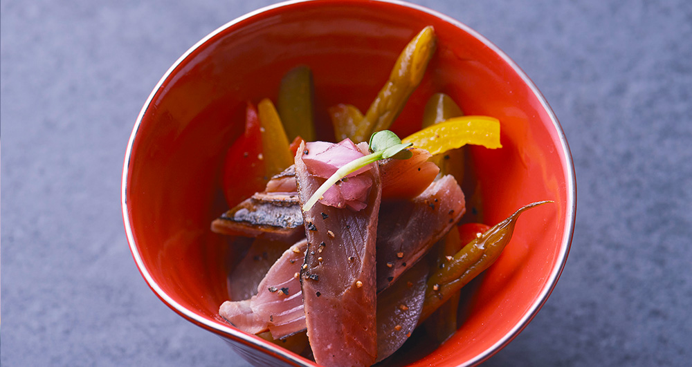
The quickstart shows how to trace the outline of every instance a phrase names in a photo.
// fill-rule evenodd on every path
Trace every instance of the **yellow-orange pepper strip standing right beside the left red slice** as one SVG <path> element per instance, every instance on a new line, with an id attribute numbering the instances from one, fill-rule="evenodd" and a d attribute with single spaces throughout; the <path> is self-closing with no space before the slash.
<path id="1" fill-rule="evenodd" d="M 293 164 L 293 156 L 289 148 L 284 126 L 274 104 L 268 98 L 257 104 L 262 126 L 262 151 L 266 176 L 271 177 L 281 173 Z"/>

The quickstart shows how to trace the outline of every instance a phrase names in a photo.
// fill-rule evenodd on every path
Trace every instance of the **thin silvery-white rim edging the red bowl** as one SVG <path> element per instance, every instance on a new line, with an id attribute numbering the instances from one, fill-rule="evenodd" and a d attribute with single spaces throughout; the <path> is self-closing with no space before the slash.
<path id="1" fill-rule="evenodd" d="M 276 357 L 282 357 L 285 359 L 285 361 L 295 364 L 297 366 L 315 366 L 312 363 L 306 364 L 305 359 L 298 359 L 294 357 L 293 355 L 286 353 L 283 348 L 279 348 L 277 346 L 274 346 L 273 344 L 270 343 L 262 343 L 258 344 L 257 339 L 255 337 L 251 337 L 247 335 L 244 332 L 240 332 L 239 330 L 236 330 L 234 328 L 230 328 L 228 326 L 221 325 L 219 323 L 214 323 L 212 321 L 209 321 L 208 319 L 205 319 L 203 317 L 199 317 L 199 315 L 195 314 L 194 312 L 191 312 L 187 308 L 184 308 L 182 305 L 177 303 L 172 297 L 170 297 L 166 292 L 163 292 L 161 287 L 154 281 L 152 278 L 152 275 L 149 274 L 149 271 L 147 270 L 147 267 L 142 261 L 142 258 L 137 250 L 137 247 L 135 245 L 134 241 L 134 235 L 132 233 L 132 228 L 131 228 L 131 223 L 129 220 L 129 209 L 127 205 L 127 181 L 128 181 L 128 168 L 129 168 L 129 162 L 131 159 L 131 152 L 132 152 L 132 146 L 134 144 L 134 140 L 136 138 L 137 132 L 139 130 L 140 124 L 142 122 L 143 116 L 145 112 L 147 111 L 147 108 L 149 107 L 149 104 L 152 102 L 154 99 L 154 95 L 159 91 L 165 80 L 173 73 L 173 71 L 183 62 L 185 58 L 187 58 L 191 53 L 194 52 L 194 50 L 197 50 L 200 46 L 205 44 L 209 39 L 212 37 L 215 37 L 218 35 L 220 32 L 226 30 L 226 28 L 229 28 L 230 26 L 233 26 L 236 23 L 239 23 L 240 21 L 244 21 L 245 19 L 255 17 L 256 15 L 261 14 L 262 12 L 266 12 L 268 10 L 273 10 L 276 8 L 282 8 L 284 6 L 290 6 L 295 3 L 305 3 L 309 1 L 317 1 L 317 0 L 291 0 L 291 1 L 284 1 L 281 3 L 276 3 L 271 6 L 266 6 L 264 8 L 257 9 L 253 12 L 249 12 L 246 15 L 243 15 L 242 17 L 238 17 L 236 19 L 233 19 L 232 21 L 229 21 L 228 23 L 224 24 L 223 26 L 217 28 L 213 32 L 211 32 L 209 35 L 201 39 L 200 41 L 197 42 L 197 44 L 194 44 L 190 49 L 188 49 L 179 59 L 176 60 L 176 62 L 166 71 L 166 73 L 161 77 L 161 79 L 158 81 L 156 86 L 154 87 L 154 90 L 152 93 L 149 95 L 147 98 L 147 101 L 145 102 L 144 106 L 142 107 L 142 110 L 140 111 L 137 120 L 135 122 L 134 128 L 132 129 L 132 133 L 129 138 L 129 142 L 127 143 L 127 151 L 125 151 L 125 162 L 123 163 L 123 168 L 122 168 L 122 183 L 121 183 L 121 192 L 120 192 L 120 201 L 121 201 L 121 206 L 122 206 L 122 218 L 125 224 L 125 232 L 127 234 L 127 242 L 129 243 L 130 251 L 132 253 L 132 256 L 134 257 L 134 261 L 137 264 L 137 267 L 144 277 L 145 281 L 149 285 L 154 292 L 160 297 L 167 305 L 172 308 L 173 310 L 176 310 L 176 312 L 179 312 L 179 314 L 182 314 L 183 316 L 187 317 L 190 319 L 190 321 L 194 321 L 194 323 L 201 324 L 203 326 L 206 326 L 207 328 L 211 330 L 217 330 L 220 332 L 222 335 L 227 335 L 228 337 L 231 337 L 231 339 L 235 339 L 238 341 L 244 341 L 244 344 L 251 344 L 254 348 L 260 348 L 263 350 L 266 350 L 267 352 L 271 352 L 271 354 L 275 355 Z M 566 225 L 566 230 L 565 233 L 563 234 L 562 242 L 561 242 L 561 252 L 559 253 L 558 256 L 558 266 L 554 267 L 552 273 L 550 274 L 547 282 L 545 283 L 545 286 L 543 290 L 540 292 L 539 296 L 536 298 L 536 301 L 527 309 L 527 312 L 525 315 L 520 319 L 520 321 L 514 326 L 509 332 L 507 332 L 506 335 L 504 335 L 502 338 L 500 338 L 495 344 L 484 350 L 482 353 L 477 355 L 475 358 L 471 359 L 470 361 L 467 361 L 465 364 L 462 364 L 460 366 L 473 366 L 475 364 L 478 364 L 485 359 L 491 357 L 491 355 L 495 354 L 498 350 L 503 348 L 506 344 L 509 343 L 514 337 L 516 337 L 521 330 L 523 330 L 527 324 L 531 321 L 531 319 L 536 316 L 536 313 L 538 310 L 543 306 L 543 303 L 547 300 L 549 297 L 550 293 L 554 289 L 558 278 L 560 277 L 560 274 L 562 273 L 564 267 L 565 267 L 565 262 L 567 261 L 567 254 L 570 252 L 570 245 L 572 242 L 572 235 L 574 233 L 574 223 L 576 220 L 576 178 L 575 178 L 575 173 L 574 173 L 574 162 L 572 160 L 572 153 L 570 152 L 570 147 L 567 144 L 567 138 L 565 138 L 565 133 L 562 129 L 562 126 L 558 122 L 558 119 L 555 115 L 555 113 L 552 111 L 550 106 L 548 105 L 547 101 L 545 100 L 545 97 L 543 97 L 543 94 L 538 91 L 538 88 L 536 85 L 534 85 L 534 82 L 529 79 L 529 77 L 524 73 L 524 71 L 515 63 L 513 60 L 507 56 L 498 46 L 495 46 L 491 41 L 480 35 L 480 33 L 476 32 L 469 26 L 466 26 L 466 24 L 457 21 L 456 19 L 453 19 L 451 17 L 448 17 L 447 15 L 444 15 L 440 12 L 437 12 L 435 10 L 431 10 L 428 8 L 425 8 L 424 6 L 419 6 L 417 4 L 413 3 L 407 3 L 404 1 L 399 1 L 399 0 L 374 0 L 377 2 L 381 3 L 392 3 L 397 6 L 403 6 L 406 8 L 412 8 L 415 10 L 419 10 L 421 12 L 426 12 L 434 17 L 437 17 L 439 19 L 442 19 L 453 26 L 456 26 L 457 28 L 460 28 L 464 30 L 465 32 L 468 32 L 468 34 L 472 35 L 479 41 L 481 41 L 483 44 L 488 46 L 491 50 L 493 50 L 498 56 L 500 56 L 504 62 L 507 62 L 511 68 L 522 78 L 522 80 L 531 88 L 531 91 L 534 93 L 538 101 L 540 102 L 541 106 L 543 106 L 543 109 L 546 111 L 546 113 L 549 115 L 550 120 L 552 120 L 554 127 L 558 133 L 558 137 L 561 142 L 561 148 L 563 149 L 563 156 L 565 157 L 565 177 L 567 178 L 567 218 L 565 218 L 565 223 Z"/>

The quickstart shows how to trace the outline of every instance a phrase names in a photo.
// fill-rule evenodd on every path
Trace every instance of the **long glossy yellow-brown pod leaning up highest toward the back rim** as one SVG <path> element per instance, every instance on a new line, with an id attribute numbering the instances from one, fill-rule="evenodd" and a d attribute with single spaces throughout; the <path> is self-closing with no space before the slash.
<path id="1" fill-rule="evenodd" d="M 423 28 L 406 45 L 394 64 L 389 80 L 370 104 L 365 118 L 358 124 L 358 130 L 352 139 L 354 142 L 363 142 L 373 133 L 389 129 L 408 97 L 423 79 L 436 47 L 437 36 L 432 26 Z"/>

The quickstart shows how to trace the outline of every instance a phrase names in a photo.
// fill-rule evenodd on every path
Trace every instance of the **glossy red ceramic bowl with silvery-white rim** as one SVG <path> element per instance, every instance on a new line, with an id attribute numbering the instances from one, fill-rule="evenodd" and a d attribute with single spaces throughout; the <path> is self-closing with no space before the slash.
<path id="1" fill-rule="evenodd" d="M 570 249 L 576 187 L 567 141 L 507 55 L 459 21 L 397 1 L 298 1 L 257 10 L 199 41 L 158 82 L 127 147 L 122 215 L 137 266 L 163 302 L 257 366 L 315 366 L 217 313 L 237 257 L 209 229 L 227 209 L 221 161 L 242 132 L 246 100 L 275 100 L 280 78 L 297 64 L 313 70 L 318 132 L 330 139 L 327 106 L 344 102 L 365 111 L 403 46 L 428 25 L 439 37 L 437 55 L 392 129 L 399 136 L 416 131 L 428 97 L 447 93 L 467 114 L 502 124 L 502 149 L 473 149 L 484 221 L 497 223 L 537 200 L 555 203 L 523 214 L 502 256 L 466 292 L 466 320 L 456 334 L 436 348 L 408 348 L 405 362 L 478 364 L 527 326 Z"/>

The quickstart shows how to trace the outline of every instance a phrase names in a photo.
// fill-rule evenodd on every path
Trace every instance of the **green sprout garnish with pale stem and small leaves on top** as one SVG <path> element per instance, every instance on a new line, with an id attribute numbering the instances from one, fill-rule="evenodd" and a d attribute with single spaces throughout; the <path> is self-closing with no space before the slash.
<path id="1" fill-rule="evenodd" d="M 341 180 L 349 174 L 358 171 L 358 169 L 361 169 L 370 163 L 386 158 L 408 159 L 413 156 L 410 151 L 406 150 L 406 148 L 412 146 L 413 143 L 403 144 L 397 134 L 392 133 L 392 131 L 389 130 L 378 131 L 372 134 L 370 137 L 370 144 L 368 145 L 372 153 L 361 158 L 356 158 L 351 162 L 344 164 L 340 169 L 337 169 L 336 172 L 334 172 L 334 174 L 331 175 L 331 177 L 329 177 L 325 183 L 323 183 L 322 186 L 317 189 L 317 191 L 315 191 L 315 194 L 312 194 L 311 198 L 307 200 L 302 207 L 303 211 L 310 210 L 313 205 L 320 200 L 322 195 L 327 192 L 329 187 L 336 184 L 338 180 Z"/>

